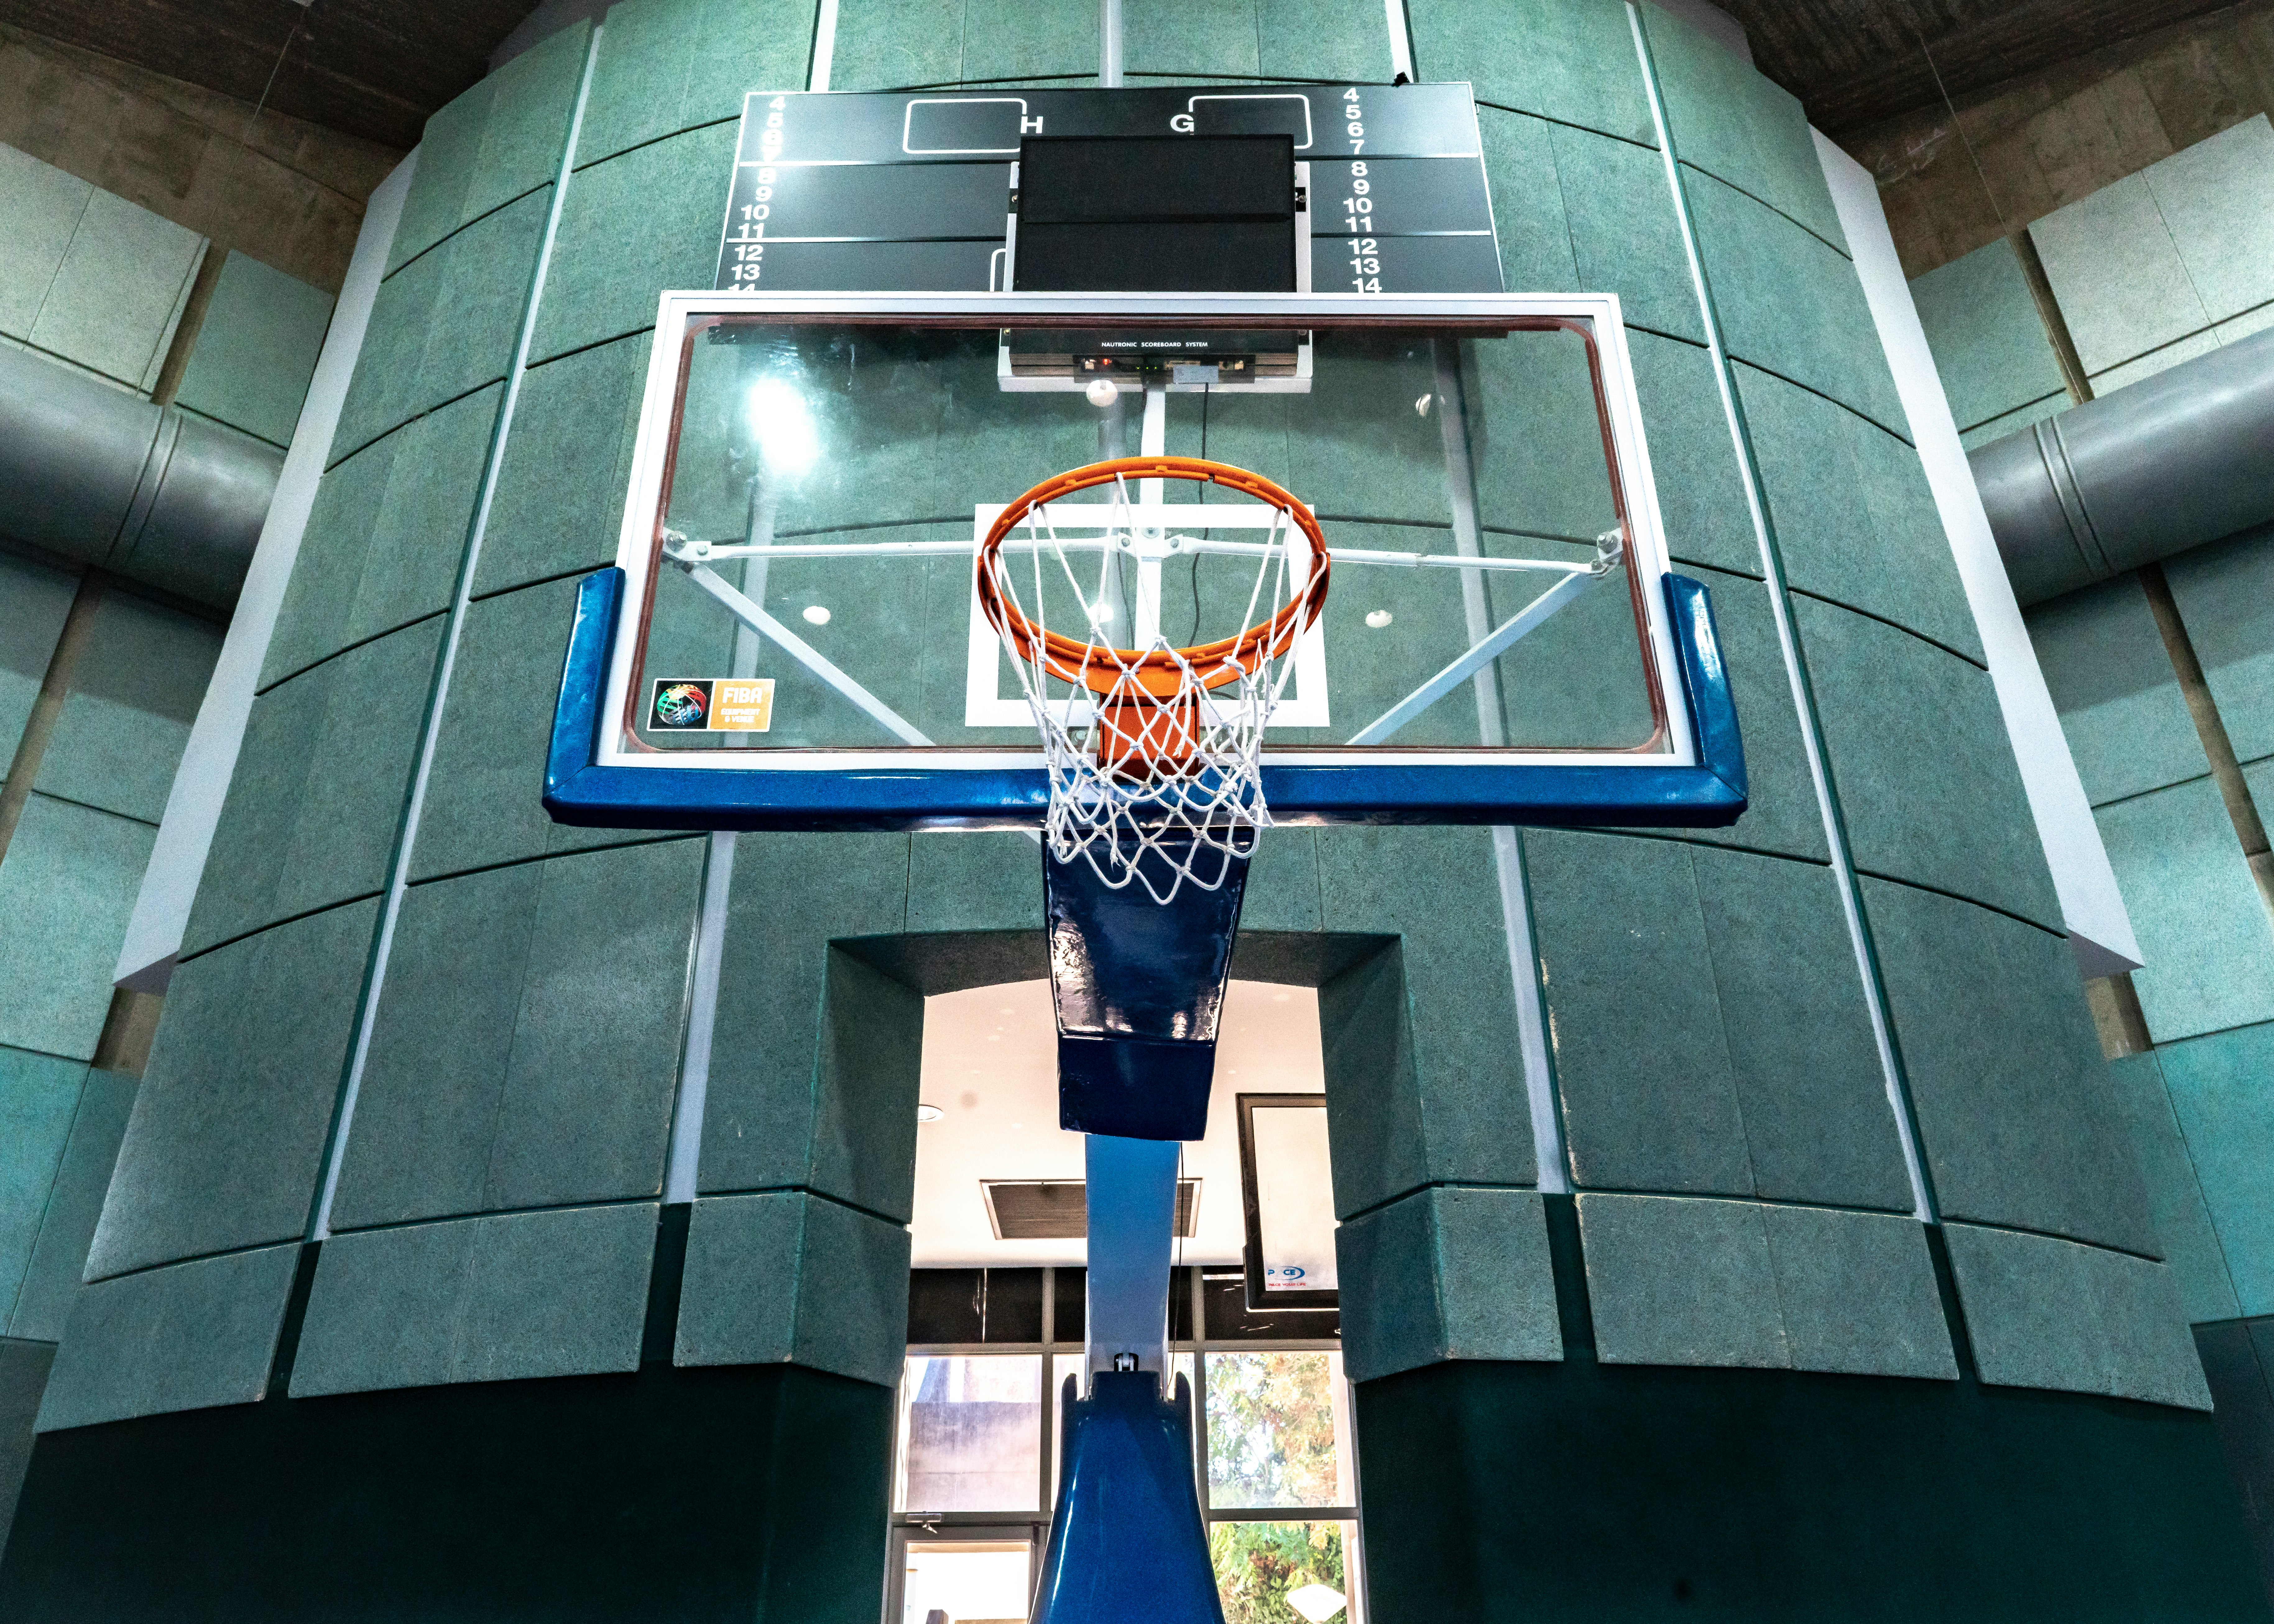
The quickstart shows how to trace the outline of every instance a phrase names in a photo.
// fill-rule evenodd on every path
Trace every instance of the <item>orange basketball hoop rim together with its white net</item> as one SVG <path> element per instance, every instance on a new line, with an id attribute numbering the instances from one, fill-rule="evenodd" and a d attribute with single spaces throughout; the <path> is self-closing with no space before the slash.
<path id="1" fill-rule="evenodd" d="M 1171 516 L 1210 528 L 1210 509 L 1164 507 L 1144 484 L 1132 498 L 1130 480 L 1217 484 L 1273 514 L 1262 541 L 1169 535 Z M 1067 500 L 1096 487 L 1110 487 L 1105 503 Z M 1005 550 L 1028 553 L 1030 569 L 1016 569 Z M 1073 566 L 1085 553 L 1098 555 L 1089 582 Z M 1244 630 L 1189 646 L 1160 635 L 1160 564 L 1185 555 L 1253 560 Z M 1139 566 L 1142 648 L 1119 648 L 1105 635 L 1121 607 L 1114 587 L 1126 557 Z M 1271 826 L 1264 726 L 1294 678 L 1296 644 L 1326 607 L 1330 564 L 1303 503 L 1260 473 L 1198 457 L 1096 462 L 1044 480 L 996 516 L 978 553 L 980 612 L 1001 632 L 1041 732 L 1051 769 L 1044 832 L 1057 862 L 1082 855 L 1107 887 L 1137 880 L 1167 903 L 1182 885 L 1217 889 L 1235 860 L 1255 851 L 1255 832 Z M 1080 637 L 1046 625 L 1048 600 L 1064 603 L 1069 589 Z M 1194 598 L 1198 619 L 1198 589 Z M 1278 607 L 1258 621 L 1262 603 Z"/>

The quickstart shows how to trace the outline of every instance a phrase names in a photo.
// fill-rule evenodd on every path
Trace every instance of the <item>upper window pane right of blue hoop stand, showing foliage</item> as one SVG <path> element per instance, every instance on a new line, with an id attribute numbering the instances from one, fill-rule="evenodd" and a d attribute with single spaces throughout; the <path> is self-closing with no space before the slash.
<path id="1" fill-rule="evenodd" d="M 1348 1506 L 1335 1353 L 1207 1356 L 1207 1503 Z"/>

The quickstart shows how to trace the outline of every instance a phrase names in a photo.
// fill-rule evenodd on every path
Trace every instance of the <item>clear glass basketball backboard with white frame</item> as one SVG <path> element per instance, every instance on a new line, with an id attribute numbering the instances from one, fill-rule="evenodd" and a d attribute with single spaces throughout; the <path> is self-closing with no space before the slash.
<path id="1" fill-rule="evenodd" d="M 1251 300 L 1078 325 L 707 300 L 666 296 L 650 371 L 616 762 L 1030 757 L 1019 671 L 976 607 L 976 541 L 1037 482 L 1121 455 L 1248 469 L 1323 530 L 1330 594 L 1269 760 L 1690 760 L 1615 300 L 1480 298 L 1426 321 Z M 1048 512 L 1080 541 L 1073 566 L 1021 575 L 1053 630 L 1189 646 L 1278 607 L 1255 557 L 1269 505 L 1132 480 L 1117 532 L 1112 496 Z M 1026 571 L 1041 553 L 1021 535 L 1005 557 Z"/>

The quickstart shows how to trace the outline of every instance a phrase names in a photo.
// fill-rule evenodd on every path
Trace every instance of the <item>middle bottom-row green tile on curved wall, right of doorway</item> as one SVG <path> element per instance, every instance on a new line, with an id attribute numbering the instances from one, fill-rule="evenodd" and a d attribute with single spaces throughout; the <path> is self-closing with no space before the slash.
<path id="1" fill-rule="evenodd" d="M 1605 1365 L 1749 1365 L 1956 1378 L 1910 1217 L 1580 1194 Z"/>

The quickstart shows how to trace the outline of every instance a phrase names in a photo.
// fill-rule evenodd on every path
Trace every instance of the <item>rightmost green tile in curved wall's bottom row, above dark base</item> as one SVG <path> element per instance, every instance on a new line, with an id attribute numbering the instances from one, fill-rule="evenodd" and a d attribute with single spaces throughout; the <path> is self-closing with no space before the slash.
<path id="1" fill-rule="evenodd" d="M 2160 1262 L 1972 1224 L 1942 1233 L 1983 1383 L 2210 1408 L 2178 1287 Z"/>

